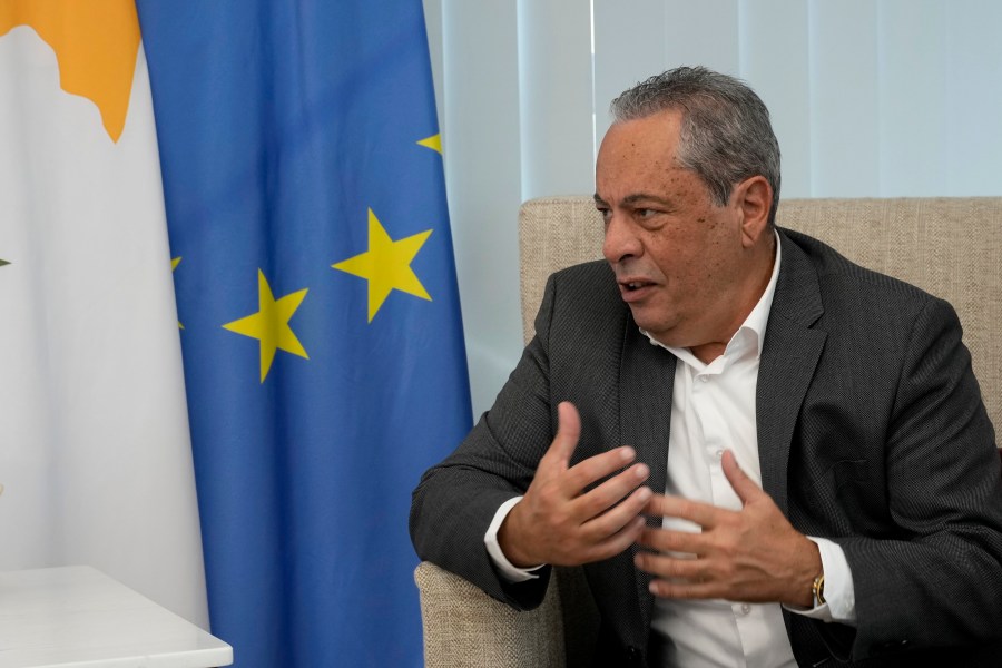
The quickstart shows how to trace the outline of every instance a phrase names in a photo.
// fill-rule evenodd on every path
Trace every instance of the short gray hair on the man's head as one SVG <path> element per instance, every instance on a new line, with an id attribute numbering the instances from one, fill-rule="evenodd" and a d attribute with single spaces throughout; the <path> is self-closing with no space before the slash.
<path id="1" fill-rule="evenodd" d="M 676 160 L 703 179 L 714 204 L 726 205 L 734 186 L 763 176 L 773 187 L 773 225 L 779 206 L 779 143 L 755 91 L 705 67 L 679 67 L 637 84 L 610 106 L 613 122 L 666 110 L 682 114 Z"/>

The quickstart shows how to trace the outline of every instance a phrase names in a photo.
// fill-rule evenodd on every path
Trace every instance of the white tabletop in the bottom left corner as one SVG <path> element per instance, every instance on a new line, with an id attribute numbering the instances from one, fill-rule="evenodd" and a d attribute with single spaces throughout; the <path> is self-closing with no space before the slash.
<path id="1" fill-rule="evenodd" d="M 208 668 L 233 648 L 88 566 L 0 572 L 0 668 Z"/>

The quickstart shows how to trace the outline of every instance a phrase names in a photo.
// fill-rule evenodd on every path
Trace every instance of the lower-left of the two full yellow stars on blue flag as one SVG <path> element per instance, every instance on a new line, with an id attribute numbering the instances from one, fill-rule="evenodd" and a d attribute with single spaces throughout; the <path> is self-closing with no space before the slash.
<path id="1" fill-rule="evenodd" d="M 283 350 L 301 357 L 310 358 L 299 340 L 288 326 L 296 308 L 303 303 L 306 296 L 306 288 L 292 294 L 285 295 L 278 301 L 272 296 L 272 288 L 268 286 L 267 278 L 264 273 L 257 271 L 257 304 L 261 311 L 247 317 L 242 317 L 226 325 L 224 328 L 250 338 L 261 341 L 261 382 L 264 383 L 268 371 L 272 369 L 272 361 L 275 358 L 275 351 Z"/>

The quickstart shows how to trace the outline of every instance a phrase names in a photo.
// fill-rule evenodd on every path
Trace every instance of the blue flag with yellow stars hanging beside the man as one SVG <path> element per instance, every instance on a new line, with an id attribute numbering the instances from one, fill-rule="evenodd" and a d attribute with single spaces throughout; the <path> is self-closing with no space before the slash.
<path id="1" fill-rule="evenodd" d="M 421 472 L 470 428 L 421 0 L 139 0 L 212 630 L 420 666 Z"/>

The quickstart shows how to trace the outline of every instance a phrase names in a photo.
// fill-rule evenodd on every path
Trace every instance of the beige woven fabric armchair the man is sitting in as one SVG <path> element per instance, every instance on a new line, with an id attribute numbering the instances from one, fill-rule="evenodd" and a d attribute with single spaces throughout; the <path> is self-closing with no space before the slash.
<path id="1" fill-rule="evenodd" d="M 805 232 L 851 259 L 947 299 L 964 326 L 974 373 L 1002 429 L 1002 197 L 790 199 L 778 225 Z M 519 213 L 522 325 L 547 277 L 601 257 L 602 226 L 591 197 L 552 197 Z M 1002 455 L 1002 451 L 1000 451 Z M 588 664 L 596 628 L 580 571 L 557 569 L 543 605 L 518 612 L 465 580 L 424 562 L 415 571 L 429 668 L 554 667 Z"/>

